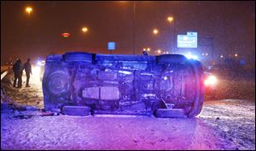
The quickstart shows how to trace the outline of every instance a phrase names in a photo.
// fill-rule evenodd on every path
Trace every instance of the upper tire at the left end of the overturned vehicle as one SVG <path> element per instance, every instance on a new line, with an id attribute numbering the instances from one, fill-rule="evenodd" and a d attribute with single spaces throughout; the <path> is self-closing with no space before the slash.
<path id="1" fill-rule="evenodd" d="M 82 53 L 82 52 L 78 52 L 78 53 L 65 53 L 63 55 L 63 59 L 64 61 L 67 62 L 90 62 L 92 61 L 92 54 L 91 53 Z"/>

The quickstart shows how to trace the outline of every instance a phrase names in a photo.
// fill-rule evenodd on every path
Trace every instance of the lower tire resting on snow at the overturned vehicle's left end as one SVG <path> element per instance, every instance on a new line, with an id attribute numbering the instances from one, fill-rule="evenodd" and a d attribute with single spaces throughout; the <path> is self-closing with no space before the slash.
<path id="1" fill-rule="evenodd" d="M 75 115 L 75 116 L 90 115 L 90 108 L 87 106 L 64 106 L 61 111 L 64 115 Z"/>

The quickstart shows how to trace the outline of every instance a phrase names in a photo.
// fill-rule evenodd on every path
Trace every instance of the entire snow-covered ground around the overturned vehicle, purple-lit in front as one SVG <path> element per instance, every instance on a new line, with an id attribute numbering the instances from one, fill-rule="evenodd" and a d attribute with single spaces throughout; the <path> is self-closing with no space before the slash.
<path id="1" fill-rule="evenodd" d="M 6 108 L 6 102 L 38 109 L 44 106 L 37 78 L 32 80 L 32 87 L 16 89 L 9 87 L 9 77 L 11 74 L 1 83 L 8 95 L 1 95 L 5 106 L 1 109 L 1 149 L 255 149 L 255 81 L 243 89 L 241 84 L 229 88 L 236 84 L 233 81 L 220 82 L 219 87 L 224 90 L 219 91 L 239 91 L 239 96 L 247 97 L 252 90 L 247 100 L 228 99 L 230 95 L 218 92 L 218 100 L 207 98 L 195 118 L 157 119 L 42 116 L 43 112 L 37 109 Z M 236 97 L 232 95 L 231 98 Z"/>

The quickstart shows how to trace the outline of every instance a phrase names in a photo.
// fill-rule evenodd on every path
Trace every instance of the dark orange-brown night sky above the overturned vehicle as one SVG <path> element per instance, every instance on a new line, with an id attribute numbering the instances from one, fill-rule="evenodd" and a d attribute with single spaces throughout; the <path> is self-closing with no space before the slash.
<path id="1" fill-rule="evenodd" d="M 33 8 L 26 14 L 26 6 Z M 132 53 L 133 3 L 123 2 L 3 2 L 1 1 L 1 64 L 17 57 L 44 58 L 52 53 L 86 51 Z M 176 35 L 197 31 L 213 37 L 214 53 L 235 54 L 255 63 L 255 2 L 136 2 L 136 53 L 149 47 L 170 50 Z M 87 33 L 81 31 L 88 28 Z M 157 28 L 157 36 L 152 30 Z M 61 33 L 71 35 L 63 38 Z"/>

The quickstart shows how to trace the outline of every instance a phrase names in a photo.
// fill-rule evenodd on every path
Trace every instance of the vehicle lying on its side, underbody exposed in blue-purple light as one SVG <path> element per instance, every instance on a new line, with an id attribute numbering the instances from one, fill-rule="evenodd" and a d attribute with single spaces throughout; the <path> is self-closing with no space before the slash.
<path id="1" fill-rule="evenodd" d="M 204 100 L 201 63 L 180 54 L 49 55 L 44 109 L 66 115 L 193 117 Z"/>

